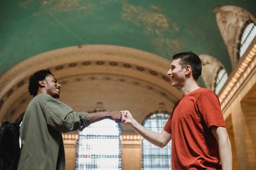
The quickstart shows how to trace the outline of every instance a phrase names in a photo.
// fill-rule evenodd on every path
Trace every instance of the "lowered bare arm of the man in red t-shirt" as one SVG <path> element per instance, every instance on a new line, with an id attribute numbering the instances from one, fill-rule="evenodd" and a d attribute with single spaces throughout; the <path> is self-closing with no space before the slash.
<path id="1" fill-rule="evenodd" d="M 210 130 L 219 144 L 222 169 L 232 170 L 232 151 L 226 128 L 212 126 Z"/>

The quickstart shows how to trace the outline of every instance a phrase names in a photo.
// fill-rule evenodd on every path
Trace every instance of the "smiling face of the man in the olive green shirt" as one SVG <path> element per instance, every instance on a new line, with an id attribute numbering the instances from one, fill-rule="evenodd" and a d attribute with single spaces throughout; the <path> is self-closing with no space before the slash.
<path id="1" fill-rule="evenodd" d="M 53 98 L 59 98 L 60 93 L 60 84 L 57 82 L 57 79 L 53 75 L 47 75 L 45 78 L 45 88 L 47 94 L 50 94 Z"/>

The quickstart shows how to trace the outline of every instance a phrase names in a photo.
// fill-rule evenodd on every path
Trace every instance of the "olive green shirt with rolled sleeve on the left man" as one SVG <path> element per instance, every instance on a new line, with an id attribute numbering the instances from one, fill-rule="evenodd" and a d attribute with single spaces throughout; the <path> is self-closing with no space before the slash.
<path id="1" fill-rule="evenodd" d="M 73 112 L 49 94 L 38 94 L 29 103 L 20 127 L 22 151 L 18 169 L 65 169 L 61 132 L 90 125 L 86 112 Z"/>

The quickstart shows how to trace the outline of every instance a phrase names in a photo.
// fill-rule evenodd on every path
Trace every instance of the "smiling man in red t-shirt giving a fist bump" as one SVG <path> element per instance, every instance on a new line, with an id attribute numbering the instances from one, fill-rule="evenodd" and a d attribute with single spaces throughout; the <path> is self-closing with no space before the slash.
<path id="1" fill-rule="evenodd" d="M 127 110 L 121 111 L 122 123 L 161 148 L 172 139 L 173 170 L 231 170 L 231 145 L 220 102 L 213 91 L 198 86 L 201 70 L 196 54 L 184 52 L 173 56 L 167 75 L 183 97 L 175 104 L 161 133 L 145 129 Z"/>

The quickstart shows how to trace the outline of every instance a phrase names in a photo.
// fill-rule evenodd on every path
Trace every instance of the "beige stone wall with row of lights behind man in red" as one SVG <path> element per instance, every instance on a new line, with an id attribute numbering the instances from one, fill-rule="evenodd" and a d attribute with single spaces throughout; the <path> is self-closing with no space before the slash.
<path id="1" fill-rule="evenodd" d="M 229 75 L 220 94 L 230 124 L 234 169 L 256 169 L 256 38 Z"/>

